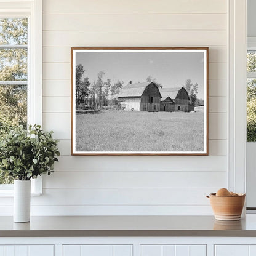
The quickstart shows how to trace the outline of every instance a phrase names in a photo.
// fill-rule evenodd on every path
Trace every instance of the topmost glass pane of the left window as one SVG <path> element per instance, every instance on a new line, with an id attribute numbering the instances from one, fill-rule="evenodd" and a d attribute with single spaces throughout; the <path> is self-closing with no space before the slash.
<path id="1" fill-rule="evenodd" d="M 28 19 L 0 18 L 0 44 L 28 44 Z"/>

